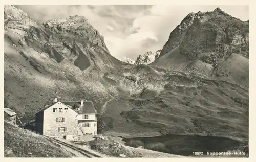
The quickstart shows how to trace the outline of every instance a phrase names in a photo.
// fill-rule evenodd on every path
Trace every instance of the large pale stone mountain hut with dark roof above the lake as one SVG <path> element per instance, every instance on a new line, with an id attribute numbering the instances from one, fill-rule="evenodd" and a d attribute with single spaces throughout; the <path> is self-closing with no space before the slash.
<path id="1" fill-rule="evenodd" d="M 96 135 L 96 110 L 91 101 L 57 101 L 36 113 L 37 131 L 55 137 Z"/>

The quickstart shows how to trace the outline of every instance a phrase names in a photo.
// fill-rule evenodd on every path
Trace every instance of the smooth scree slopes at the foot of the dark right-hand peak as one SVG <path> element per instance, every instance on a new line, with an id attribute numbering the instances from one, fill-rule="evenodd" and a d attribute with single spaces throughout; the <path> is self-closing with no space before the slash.
<path id="1" fill-rule="evenodd" d="M 206 78 L 226 80 L 244 87 L 249 87 L 249 59 L 238 54 L 231 54 L 216 66 L 200 60 L 191 61 L 181 55 L 179 47 L 168 52 L 151 63 L 152 66 L 168 70 L 183 71 Z"/>

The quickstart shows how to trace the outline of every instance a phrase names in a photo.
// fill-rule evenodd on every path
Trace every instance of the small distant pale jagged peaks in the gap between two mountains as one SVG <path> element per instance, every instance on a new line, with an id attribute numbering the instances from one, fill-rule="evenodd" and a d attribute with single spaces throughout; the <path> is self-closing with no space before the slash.
<path id="1" fill-rule="evenodd" d="M 130 59 L 127 57 L 124 57 L 123 61 L 129 64 L 135 64 L 135 65 L 147 65 L 155 61 L 160 54 L 161 50 L 157 50 L 156 52 L 148 51 L 144 54 L 140 54 L 137 59 Z"/>

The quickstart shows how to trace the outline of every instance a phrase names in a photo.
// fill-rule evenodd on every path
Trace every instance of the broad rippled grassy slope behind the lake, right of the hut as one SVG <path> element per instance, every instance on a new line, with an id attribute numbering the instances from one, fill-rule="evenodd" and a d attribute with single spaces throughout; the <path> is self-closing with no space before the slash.
<path id="1" fill-rule="evenodd" d="M 106 105 L 104 131 L 127 136 L 181 133 L 248 138 L 248 90 L 180 72 L 158 71 L 156 76 L 151 67 L 137 67 L 127 69 L 140 77 L 137 82 L 108 76 L 122 89 L 130 89 Z"/>

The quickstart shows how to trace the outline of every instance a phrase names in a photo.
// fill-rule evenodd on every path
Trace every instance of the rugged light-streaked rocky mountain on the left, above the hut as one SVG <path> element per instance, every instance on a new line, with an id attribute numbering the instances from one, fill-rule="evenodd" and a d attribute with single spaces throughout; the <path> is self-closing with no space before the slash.
<path id="1" fill-rule="evenodd" d="M 103 36 L 82 16 L 49 20 L 39 26 L 22 10 L 5 6 L 5 29 L 7 37 L 23 32 L 20 46 L 28 46 L 57 63 L 68 60 L 82 71 L 108 71 L 124 65 L 110 55 Z"/>

